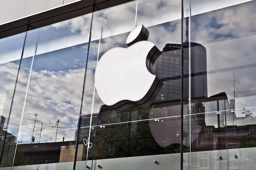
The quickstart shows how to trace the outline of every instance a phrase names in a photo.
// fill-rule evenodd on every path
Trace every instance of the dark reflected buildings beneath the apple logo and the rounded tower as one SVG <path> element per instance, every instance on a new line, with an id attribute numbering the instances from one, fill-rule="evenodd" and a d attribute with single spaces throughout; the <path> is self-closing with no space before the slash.
<path id="1" fill-rule="evenodd" d="M 242 142 L 237 136 L 244 136 L 249 132 L 256 133 L 253 123 L 256 119 L 250 115 L 236 117 L 232 102 L 230 102 L 232 100 L 227 98 L 225 92 L 209 98 L 192 100 L 191 132 L 190 134 L 184 133 L 185 150 L 189 147 L 192 152 L 241 148 Z M 184 106 L 188 107 L 187 100 L 184 102 Z M 187 114 L 184 114 L 184 127 L 189 125 Z M 99 158 L 163 154 L 166 149 L 169 152 L 178 153 L 177 148 L 180 147 L 179 115 L 179 100 L 156 102 L 144 109 L 133 107 L 122 112 L 115 112 L 103 105 L 99 113 L 93 114 L 91 138 L 95 140 L 97 148 L 95 153 Z M 90 125 L 86 124 L 88 119 L 90 115 L 82 117 L 80 144 L 82 144 L 82 138 L 88 138 L 89 135 Z M 126 123 L 127 121 L 132 122 Z M 116 124 L 117 122 L 119 124 Z M 96 124 L 104 126 L 96 126 Z M 141 145 L 145 140 L 148 143 Z M 123 145 L 125 141 L 131 143 Z M 124 153 L 119 153 L 119 150 L 123 150 Z"/>

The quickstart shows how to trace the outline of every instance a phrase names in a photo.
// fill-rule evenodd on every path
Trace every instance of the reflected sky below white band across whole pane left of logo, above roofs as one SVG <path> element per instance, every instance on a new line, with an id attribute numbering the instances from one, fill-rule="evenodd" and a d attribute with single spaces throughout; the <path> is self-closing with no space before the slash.
<path id="1" fill-rule="evenodd" d="M 46 128 L 43 130 L 40 142 L 55 141 L 56 129 L 52 128 L 50 123 L 56 123 L 58 119 L 60 120 L 59 127 L 64 128 L 58 132 L 57 141 L 62 141 L 63 137 L 65 137 L 65 141 L 75 140 L 76 121 L 79 118 L 81 107 L 87 46 L 88 43 L 35 56 L 20 128 L 20 134 L 23 137 L 20 135 L 19 140 L 22 137 L 23 144 L 30 143 L 34 126 L 32 120 L 35 119 L 35 114 L 37 114 L 37 122 L 43 123 L 43 128 Z M 24 58 L 22 61 L 17 94 L 9 124 L 9 131 L 15 134 L 19 129 L 17 122 L 20 122 L 21 118 L 31 62 L 32 57 Z M 36 124 L 35 127 L 41 127 L 41 124 Z M 36 141 L 39 140 L 39 132 L 39 128 L 34 130 Z"/>

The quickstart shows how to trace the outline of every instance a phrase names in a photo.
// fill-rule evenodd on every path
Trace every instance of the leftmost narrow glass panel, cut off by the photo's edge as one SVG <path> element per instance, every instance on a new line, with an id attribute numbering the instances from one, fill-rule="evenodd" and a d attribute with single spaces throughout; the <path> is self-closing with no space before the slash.
<path id="1" fill-rule="evenodd" d="M 5 146 L 9 149 L 4 150 L 5 154 L 8 150 L 12 152 L 17 140 L 17 132 L 7 122 L 12 105 L 12 97 L 15 90 L 25 35 L 26 33 L 20 33 L 0 39 L 0 153 L 2 152 L 3 140 L 6 135 Z M 12 160 L 12 156 L 3 156 L 1 166 L 12 162 Z"/>

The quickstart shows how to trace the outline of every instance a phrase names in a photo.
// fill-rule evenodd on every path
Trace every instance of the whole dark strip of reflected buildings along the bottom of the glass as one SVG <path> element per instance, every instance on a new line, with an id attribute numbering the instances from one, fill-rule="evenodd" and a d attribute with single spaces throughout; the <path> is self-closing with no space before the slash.
<path id="1" fill-rule="evenodd" d="M 187 100 L 184 102 L 184 106 L 188 107 Z M 191 147 L 193 166 L 224 169 L 226 162 L 224 159 L 214 162 L 211 160 L 218 157 L 215 152 L 224 157 L 226 149 L 233 150 L 241 160 L 252 161 L 236 149 L 246 144 L 256 146 L 256 142 L 248 140 L 256 136 L 256 127 L 253 123 L 256 122 L 256 118 L 249 114 L 237 118 L 230 103 L 232 102 L 228 100 L 225 92 L 209 98 L 192 100 L 191 121 L 187 121 L 189 120 L 187 113 L 184 115 L 183 147 L 185 152 L 189 152 Z M 132 107 L 122 112 L 115 112 L 103 105 L 100 112 L 93 114 L 92 117 L 90 142 L 95 150 L 94 152 L 89 150 L 88 159 L 179 153 L 179 115 L 180 100 L 160 101 L 147 108 Z M 84 143 L 84 139 L 89 136 L 90 119 L 91 115 L 84 115 L 80 119 L 78 161 L 86 160 L 87 143 Z M 239 124 L 241 122 L 243 124 Z M 102 126 L 98 126 L 99 124 Z M 186 131 L 189 124 L 190 133 Z M 47 157 L 48 163 L 58 163 L 73 160 L 76 141 L 19 144 L 18 146 L 17 152 L 26 158 L 24 164 L 45 163 L 41 160 L 41 156 Z M 51 156 L 48 156 L 49 154 Z"/>

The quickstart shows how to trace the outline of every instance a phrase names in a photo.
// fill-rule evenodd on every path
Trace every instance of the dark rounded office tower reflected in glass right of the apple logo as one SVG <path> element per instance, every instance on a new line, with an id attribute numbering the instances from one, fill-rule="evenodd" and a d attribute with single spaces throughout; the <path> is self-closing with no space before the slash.
<path id="1" fill-rule="evenodd" d="M 184 98 L 189 98 L 189 43 L 184 46 Z M 191 98 L 207 98 L 206 49 L 198 43 L 190 43 Z M 163 81 L 157 100 L 180 99 L 181 96 L 181 45 L 169 44 L 154 64 L 154 74 Z"/>

